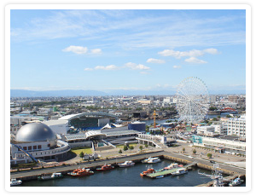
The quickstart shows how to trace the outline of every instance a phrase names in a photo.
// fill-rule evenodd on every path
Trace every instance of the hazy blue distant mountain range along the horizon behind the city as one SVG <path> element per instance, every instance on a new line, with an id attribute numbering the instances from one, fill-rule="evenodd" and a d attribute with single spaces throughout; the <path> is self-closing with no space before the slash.
<path id="1" fill-rule="evenodd" d="M 42 97 L 42 96 L 104 96 L 104 95 L 175 95 L 175 90 L 112 90 L 108 93 L 98 90 L 46 90 L 35 91 L 10 89 L 10 97 Z M 245 90 L 210 90 L 211 95 L 245 94 Z"/>

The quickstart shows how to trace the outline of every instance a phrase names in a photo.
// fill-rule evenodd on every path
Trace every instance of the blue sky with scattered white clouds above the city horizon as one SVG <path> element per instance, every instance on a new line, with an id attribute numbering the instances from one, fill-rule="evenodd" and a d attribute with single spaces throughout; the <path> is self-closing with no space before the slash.
<path id="1" fill-rule="evenodd" d="M 246 11 L 10 11 L 10 88 L 246 88 Z"/>

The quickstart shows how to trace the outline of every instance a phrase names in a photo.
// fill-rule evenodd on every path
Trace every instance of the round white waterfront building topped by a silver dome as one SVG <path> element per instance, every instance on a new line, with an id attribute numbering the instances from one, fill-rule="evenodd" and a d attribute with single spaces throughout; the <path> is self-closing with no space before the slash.
<path id="1" fill-rule="evenodd" d="M 28 163 L 33 158 L 58 161 L 65 159 L 69 150 L 67 142 L 57 140 L 46 124 L 25 124 L 11 141 L 11 164 Z"/>

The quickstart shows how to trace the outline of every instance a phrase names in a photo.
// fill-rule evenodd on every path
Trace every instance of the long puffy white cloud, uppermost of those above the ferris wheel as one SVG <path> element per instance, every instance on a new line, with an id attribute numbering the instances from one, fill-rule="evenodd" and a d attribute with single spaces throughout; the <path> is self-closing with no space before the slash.
<path id="1" fill-rule="evenodd" d="M 195 57 L 195 56 L 205 55 L 206 53 L 215 55 L 218 53 L 218 50 L 217 49 L 203 49 L 203 50 L 192 49 L 189 51 L 181 52 L 181 51 L 175 51 L 173 49 L 164 49 L 163 51 L 160 51 L 158 54 L 162 56 L 173 56 L 177 59 L 180 59 L 183 56 Z"/>

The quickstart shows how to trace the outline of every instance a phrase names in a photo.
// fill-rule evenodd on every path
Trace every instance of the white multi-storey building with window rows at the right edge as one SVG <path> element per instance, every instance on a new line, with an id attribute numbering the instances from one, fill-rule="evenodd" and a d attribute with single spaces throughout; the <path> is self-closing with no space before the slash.
<path id="1" fill-rule="evenodd" d="M 230 118 L 228 120 L 228 135 L 237 135 L 246 138 L 246 118 Z"/>

